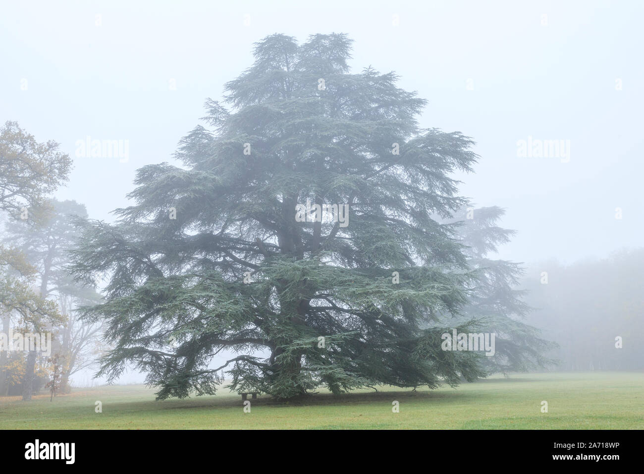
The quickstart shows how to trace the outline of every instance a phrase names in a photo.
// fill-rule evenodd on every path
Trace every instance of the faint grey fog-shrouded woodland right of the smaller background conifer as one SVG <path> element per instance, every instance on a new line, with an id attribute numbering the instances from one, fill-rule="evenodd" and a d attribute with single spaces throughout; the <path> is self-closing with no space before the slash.
<path id="1" fill-rule="evenodd" d="M 527 321 L 558 344 L 548 353 L 557 370 L 644 369 L 644 249 L 531 265 L 521 283 Z"/>

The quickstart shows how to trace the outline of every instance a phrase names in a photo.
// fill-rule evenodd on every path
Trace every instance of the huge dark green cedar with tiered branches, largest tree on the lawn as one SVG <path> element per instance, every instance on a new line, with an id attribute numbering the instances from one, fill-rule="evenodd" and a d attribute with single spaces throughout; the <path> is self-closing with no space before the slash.
<path id="1" fill-rule="evenodd" d="M 223 377 L 288 399 L 484 374 L 480 354 L 440 348 L 439 317 L 459 313 L 473 275 L 455 226 L 434 217 L 466 204 L 450 176 L 471 171 L 473 143 L 421 130 L 426 101 L 393 73 L 350 73 L 350 45 L 263 39 L 180 142 L 184 166 L 144 166 L 135 205 L 83 224 L 71 270 L 106 278 L 84 317 L 113 344 L 99 375 L 135 366 L 160 399 Z M 348 205 L 348 225 L 298 221 L 307 201 Z M 215 367 L 221 351 L 236 356 Z"/>

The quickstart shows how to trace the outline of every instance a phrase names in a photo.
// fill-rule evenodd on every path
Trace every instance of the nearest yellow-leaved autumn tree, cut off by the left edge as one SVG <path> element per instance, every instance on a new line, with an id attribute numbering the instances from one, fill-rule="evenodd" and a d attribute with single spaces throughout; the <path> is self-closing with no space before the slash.
<path id="1" fill-rule="evenodd" d="M 58 151 L 52 140 L 38 143 L 33 135 L 8 121 L 0 128 L 0 219 L 23 228 L 39 228 L 53 212 L 48 194 L 68 179 L 71 159 Z M 0 222 L 5 224 L 5 222 Z M 3 239 L 5 240 L 5 239 Z M 61 322 L 56 304 L 47 297 L 47 283 L 40 274 L 40 291 L 32 286 L 38 268 L 21 248 L 0 243 L 0 316 L 3 331 L 12 313 L 19 315 L 19 326 L 40 331 L 50 323 Z M 0 393 L 6 390 L 6 351 L 0 351 Z M 37 355 L 30 351 L 23 377 L 23 400 L 30 400 Z"/>

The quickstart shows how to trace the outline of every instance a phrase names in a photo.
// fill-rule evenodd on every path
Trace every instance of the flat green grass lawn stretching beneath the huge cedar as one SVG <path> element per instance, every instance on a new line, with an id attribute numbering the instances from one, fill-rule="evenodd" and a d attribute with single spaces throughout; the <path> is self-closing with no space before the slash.
<path id="1" fill-rule="evenodd" d="M 0 397 L 0 429 L 644 429 L 644 373 L 635 372 L 516 374 L 456 389 L 319 393 L 297 403 L 260 395 L 251 413 L 227 389 L 163 401 L 154 392 L 130 385 L 77 389 L 53 402 L 46 395 L 30 402 Z M 97 400 L 102 413 L 95 413 Z"/>

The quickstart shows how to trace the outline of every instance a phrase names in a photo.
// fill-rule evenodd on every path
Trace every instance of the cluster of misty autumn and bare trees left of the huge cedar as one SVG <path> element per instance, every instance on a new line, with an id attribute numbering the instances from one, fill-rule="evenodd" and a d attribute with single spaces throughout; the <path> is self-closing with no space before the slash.
<path id="1" fill-rule="evenodd" d="M 64 270 L 75 244 L 73 217 L 87 213 L 75 201 L 51 193 L 68 179 L 71 159 L 53 141 L 38 143 L 15 122 L 0 128 L 0 331 L 51 333 L 51 354 L 0 351 L 0 396 L 33 393 L 48 386 L 70 390 L 70 377 L 95 359 L 99 325 L 77 321 L 75 309 L 94 304 L 93 288 L 73 282 Z M 30 350 L 32 349 L 32 350 Z"/>

